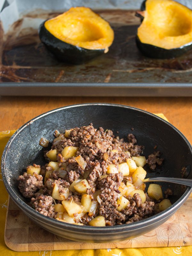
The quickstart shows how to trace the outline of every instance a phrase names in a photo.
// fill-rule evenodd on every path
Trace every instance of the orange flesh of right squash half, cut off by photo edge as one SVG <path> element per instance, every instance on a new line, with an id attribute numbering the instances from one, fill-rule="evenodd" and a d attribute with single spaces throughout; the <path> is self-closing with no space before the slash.
<path id="1" fill-rule="evenodd" d="M 137 35 L 142 43 L 164 49 L 189 44 L 192 42 L 192 10 L 172 0 L 147 0 Z"/>

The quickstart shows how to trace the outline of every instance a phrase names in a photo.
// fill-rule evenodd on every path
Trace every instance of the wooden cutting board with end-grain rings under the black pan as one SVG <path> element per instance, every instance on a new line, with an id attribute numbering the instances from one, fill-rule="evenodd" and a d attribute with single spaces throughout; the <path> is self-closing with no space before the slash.
<path id="1" fill-rule="evenodd" d="M 160 227 L 131 240 L 106 244 L 75 242 L 53 235 L 29 220 L 9 199 L 4 239 L 10 249 L 19 252 L 192 245 L 192 194 Z"/>

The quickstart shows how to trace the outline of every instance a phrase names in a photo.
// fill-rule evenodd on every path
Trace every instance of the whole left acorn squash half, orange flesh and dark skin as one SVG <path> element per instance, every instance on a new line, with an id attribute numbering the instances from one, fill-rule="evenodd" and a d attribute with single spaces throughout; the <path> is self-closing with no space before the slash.
<path id="1" fill-rule="evenodd" d="M 59 16 L 44 21 L 39 37 L 55 56 L 80 64 L 108 52 L 114 32 L 109 23 L 86 7 L 72 7 Z"/>

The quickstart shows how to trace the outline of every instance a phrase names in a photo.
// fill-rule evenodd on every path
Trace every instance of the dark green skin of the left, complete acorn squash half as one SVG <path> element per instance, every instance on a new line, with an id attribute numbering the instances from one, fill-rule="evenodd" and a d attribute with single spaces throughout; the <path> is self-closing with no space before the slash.
<path id="1" fill-rule="evenodd" d="M 82 64 L 104 53 L 105 49 L 90 50 L 61 41 L 45 28 L 45 21 L 39 27 L 39 38 L 58 60 Z"/>

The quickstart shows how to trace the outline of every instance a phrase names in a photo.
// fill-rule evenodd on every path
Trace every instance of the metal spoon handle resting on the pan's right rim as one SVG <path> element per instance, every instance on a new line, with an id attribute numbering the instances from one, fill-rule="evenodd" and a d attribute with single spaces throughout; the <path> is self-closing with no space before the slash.
<path id="1" fill-rule="evenodd" d="M 163 181 L 163 182 L 171 182 L 171 183 L 177 183 L 186 185 L 189 187 L 192 187 L 192 180 L 190 179 L 180 179 L 180 178 L 169 178 L 169 177 L 155 177 L 155 178 L 148 178 L 143 180 L 143 182 L 149 182 L 149 181 Z"/>

